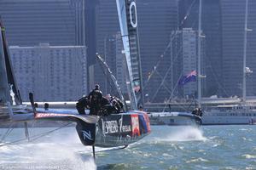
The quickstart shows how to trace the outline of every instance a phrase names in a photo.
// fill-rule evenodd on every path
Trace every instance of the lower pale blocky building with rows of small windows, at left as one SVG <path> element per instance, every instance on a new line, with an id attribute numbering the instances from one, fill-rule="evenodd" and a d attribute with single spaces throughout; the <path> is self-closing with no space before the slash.
<path id="1" fill-rule="evenodd" d="M 36 101 L 75 101 L 87 93 L 86 48 L 49 46 L 9 48 L 20 95 Z"/>

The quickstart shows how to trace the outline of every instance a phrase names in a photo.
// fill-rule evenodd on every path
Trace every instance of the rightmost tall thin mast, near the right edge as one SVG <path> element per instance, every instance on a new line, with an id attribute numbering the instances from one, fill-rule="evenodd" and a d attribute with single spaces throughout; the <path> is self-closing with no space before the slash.
<path id="1" fill-rule="evenodd" d="M 247 17 L 248 0 L 246 0 L 245 23 L 244 23 L 244 42 L 243 42 L 243 65 L 242 65 L 242 101 L 245 103 L 247 98 L 246 65 L 247 65 Z"/>

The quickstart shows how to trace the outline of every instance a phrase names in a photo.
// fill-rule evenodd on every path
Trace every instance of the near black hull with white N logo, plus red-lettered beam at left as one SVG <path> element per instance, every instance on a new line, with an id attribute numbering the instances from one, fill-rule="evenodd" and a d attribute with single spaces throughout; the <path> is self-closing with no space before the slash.
<path id="1" fill-rule="evenodd" d="M 126 146 L 143 139 L 151 131 L 148 114 L 143 111 L 101 117 L 67 114 L 67 111 L 41 111 L 35 118 L 77 122 L 76 129 L 81 142 L 99 147 Z"/>

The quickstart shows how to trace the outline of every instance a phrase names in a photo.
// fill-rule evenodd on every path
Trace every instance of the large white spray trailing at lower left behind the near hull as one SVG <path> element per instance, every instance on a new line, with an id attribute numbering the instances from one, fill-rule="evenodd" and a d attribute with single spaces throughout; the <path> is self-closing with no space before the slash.
<path id="1" fill-rule="evenodd" d="M 0 148 L 1 167 L 17 169 L 96 170 L 91 148 L 80 144 L 76 133 L 52 134 L 37 143 L 6 145 Z M 81 156 L 83 153 L 83 156 Z M 1 168 L 0 168 L 1 169 Z"/>

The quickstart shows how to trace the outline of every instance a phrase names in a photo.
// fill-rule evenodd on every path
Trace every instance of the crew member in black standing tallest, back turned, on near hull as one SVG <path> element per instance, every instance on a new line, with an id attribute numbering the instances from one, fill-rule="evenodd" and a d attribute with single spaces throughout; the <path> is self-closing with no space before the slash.
<path id="1" fill-rule="evenodd" d="M 99 111 L 102 107 L 102 91 L 98 84 L 96 84 L 95 88 L 90 92 L 88 99 L 90 101 L 90 115 L 99 115 Z"/>

